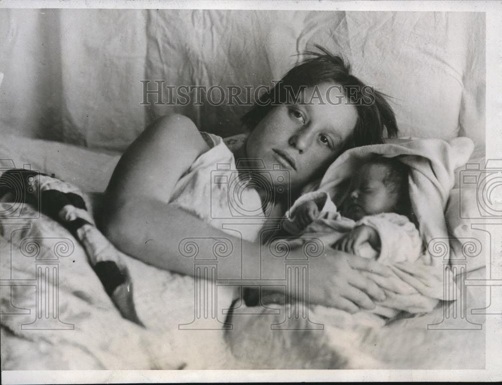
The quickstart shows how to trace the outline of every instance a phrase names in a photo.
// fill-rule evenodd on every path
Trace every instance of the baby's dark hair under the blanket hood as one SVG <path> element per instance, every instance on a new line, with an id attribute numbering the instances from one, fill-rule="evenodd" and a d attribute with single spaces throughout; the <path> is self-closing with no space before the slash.
<path id="1" fill-rule="evenodd" d="M 405 215 L 414 222 L 408 182 L 410 168 L 396 158 L 386 158 L 383 156 L 372 159 L 368 164 L 381 165 L 387 169 L 383 182 L 390 192 L 398 194 L 396 213 Z"/>

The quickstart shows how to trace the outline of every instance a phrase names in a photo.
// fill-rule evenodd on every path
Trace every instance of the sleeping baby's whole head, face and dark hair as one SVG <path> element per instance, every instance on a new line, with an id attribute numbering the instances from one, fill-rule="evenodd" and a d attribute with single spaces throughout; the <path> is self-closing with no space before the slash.
<path id="1" fill-rule="evenodd" d="M 341 214 L 353 220 L 394 212 L 409 216 L 408 166 L 394 158 L 379 157 L 364 163 L 350 181 Z"/>

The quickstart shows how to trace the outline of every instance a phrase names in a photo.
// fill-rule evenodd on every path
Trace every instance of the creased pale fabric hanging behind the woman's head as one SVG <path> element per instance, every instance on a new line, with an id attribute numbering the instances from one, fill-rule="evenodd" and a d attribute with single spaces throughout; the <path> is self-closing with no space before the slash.
<path id="1" fill-rule="evenodd" d="M 0 132 L 121 151 L 180 112 L 200 130 L 242 133 L 248 106 L 141 105 L 140 80 L 271 85 L 321 44 L 393 97 L 401 135 L 479 146 L 484 35 L 483 13 L 2 9 Z"/>

